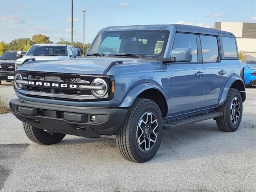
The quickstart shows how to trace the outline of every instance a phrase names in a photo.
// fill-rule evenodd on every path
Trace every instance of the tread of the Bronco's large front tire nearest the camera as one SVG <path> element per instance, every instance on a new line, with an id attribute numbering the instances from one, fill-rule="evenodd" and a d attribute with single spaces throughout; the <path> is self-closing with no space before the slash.
<path id="1" fill-rule="evenodd" d="M 144 99 L 144 98 L 138 98 L 133 102 L 132 106 L 130 108 L 128 108 L 128 113 L 126 115 L 124 123 L 122 124 L 121 128 L 118 129 L 117 134 L 116 134 L 116 144 L 117 144 L 122 156 L 126 160 L 129 160 L 129 161 L 132 161 L 132 162 L 138 162 L 132 156 L 132 152 L 131 152 L 131 149 L 130 149 L 130 144 L 128 142 L 129 141 L 130 125 L 132 123 L 132 117 L 134 116 L 134 114 L 136 113 L 136 110 L 138 110 L 140 105 L 143 104 L 144 102 L 148 102 L 148 101 L 154 102 L 152 100 Z M 158 112 L 162 116 L 160 109 L 159 109 Z"/>

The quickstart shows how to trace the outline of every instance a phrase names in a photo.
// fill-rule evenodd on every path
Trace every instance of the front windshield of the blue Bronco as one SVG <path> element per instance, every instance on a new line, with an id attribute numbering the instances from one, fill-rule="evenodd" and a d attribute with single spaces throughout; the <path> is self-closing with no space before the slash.
<path id="1" fill-rule="evenodd" d="M 162 58 L 168 41 L 167 30 L 129 30 L 101 32 L 86 54 Z M 130 55 L 128 55 L 130 54 Z"/>

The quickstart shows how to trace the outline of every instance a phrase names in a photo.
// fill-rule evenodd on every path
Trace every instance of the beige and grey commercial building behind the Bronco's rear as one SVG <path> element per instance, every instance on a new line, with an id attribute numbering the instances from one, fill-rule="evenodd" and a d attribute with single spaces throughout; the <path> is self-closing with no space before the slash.
<path id="1" fill-rule="evenodd" d="M 246 60 L 256 60 L 256 23 L 215 22 L 214 28 L 233 33 L 238 51 L 245 52 Z"/>

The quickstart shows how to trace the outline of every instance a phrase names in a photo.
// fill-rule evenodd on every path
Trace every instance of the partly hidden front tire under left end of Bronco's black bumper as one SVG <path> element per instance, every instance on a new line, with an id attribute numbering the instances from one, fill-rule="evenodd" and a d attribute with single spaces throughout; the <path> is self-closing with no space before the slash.
<path id="1" fill-rule="evenodd" d="M 38 129 L 28 123 L 23 122 L 23 128 L 28 138 L 37 144 L 51 145 L 60 142 L 66 134 L 48 132 Z"/>

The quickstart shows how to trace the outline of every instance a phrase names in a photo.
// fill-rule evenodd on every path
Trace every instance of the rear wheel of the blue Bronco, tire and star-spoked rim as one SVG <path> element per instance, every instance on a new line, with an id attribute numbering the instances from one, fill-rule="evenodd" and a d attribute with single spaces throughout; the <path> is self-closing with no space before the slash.
<path id="1" fill-rule="evenodd" d="M 223 116 L 216 118 L 216 123 L 221 131 L 234 132 L 238 129 L 243 114 L 242 96 L 237 89 L 230 89 L 224 104 L 216 109 Z"/>

